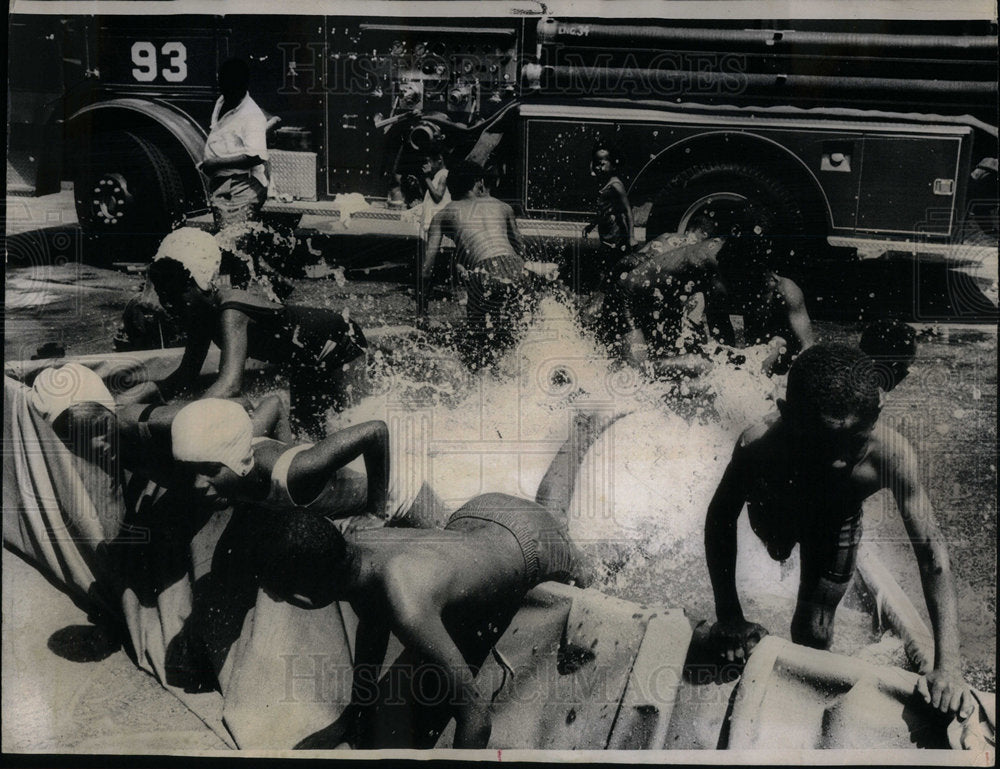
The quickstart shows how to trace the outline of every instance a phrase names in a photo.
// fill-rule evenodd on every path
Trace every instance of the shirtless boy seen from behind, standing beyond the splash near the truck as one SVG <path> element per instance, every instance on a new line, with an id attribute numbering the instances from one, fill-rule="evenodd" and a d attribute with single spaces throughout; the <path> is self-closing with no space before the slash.
<path id="1" fill-rule="evenodd" d="M 490 362 L 515 341 L 526 301 L 524 238 L 514 211 L 489 194 L 482 166 L 469 160 L 448 171 L 451 203 L 431 221 L 427 253 L 417 284 L 417 314 L 426 316 L 434 265 L 444 236 L 455 242 L 458 263 L 466 271 L 471 349 Z"/>

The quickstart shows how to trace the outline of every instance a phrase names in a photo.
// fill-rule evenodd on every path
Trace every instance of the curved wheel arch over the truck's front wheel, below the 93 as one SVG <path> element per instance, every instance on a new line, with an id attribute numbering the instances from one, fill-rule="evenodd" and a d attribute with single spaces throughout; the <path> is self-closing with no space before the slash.
<path id="1" fill-rule="evenodd" d="M 77 115 L 67 124 L 63 142 L 64 176 L 70 180 L 76 175 L 79 159 L 89 151 L 89 141 L 105 131 L 132 131 L 156 144 L 173 162 L 184 185 L 187 213 L 205 210 L 208 202 L 201 174 L 191 162 L 191 156 L 169 130 L 151 117 L 126 109 L 102 109 Z"/>

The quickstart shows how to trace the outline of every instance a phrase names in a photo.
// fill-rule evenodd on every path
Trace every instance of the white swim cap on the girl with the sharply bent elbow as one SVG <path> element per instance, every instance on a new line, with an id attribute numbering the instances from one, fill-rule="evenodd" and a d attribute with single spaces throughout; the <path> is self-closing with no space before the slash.
<path id="1" fill-rule="evenodd" d="M 233 401 L 189 403 L 174 417 L 170 440 L 179 462 L 218 462 L 241 477 L 253 469 L 253 423 Z"/>

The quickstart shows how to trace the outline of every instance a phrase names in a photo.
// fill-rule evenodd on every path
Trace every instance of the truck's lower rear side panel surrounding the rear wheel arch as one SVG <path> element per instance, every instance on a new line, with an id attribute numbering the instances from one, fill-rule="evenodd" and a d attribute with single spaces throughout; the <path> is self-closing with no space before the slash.
<path id="1" fill-rule="evenodd" d="M 552 111 L 558 114 L 560 108 Z M 525 120 L 522 189 L 527 211 L 546 216 L 591 213 L 596 187 L 589 161 L 600 138 L 619 149 L 619 176 L 635 193 L 630 200 L 634 208 L 650 201 L 696 158 L 707 156 L 759 164 L 776 178 L 811 186 L 831 234 L 945 236 L 952 231 L 961 199 L 958 170 L 971 139 L 971 131 L 959 127 L 912 127 L 900 134 L 846 122 L 786 128 L 757 120 L 751 128 L 731 120 L 709 125 L 685 119 L 678 124 L 667 114 L 658 122 L 629 123 L 601 119 L 602 114 L 606 111 Z M 759 152 L 748 154 L 748 147 Z M 930 221 L 927 212 L 932 210 L 937 213 Z"/>

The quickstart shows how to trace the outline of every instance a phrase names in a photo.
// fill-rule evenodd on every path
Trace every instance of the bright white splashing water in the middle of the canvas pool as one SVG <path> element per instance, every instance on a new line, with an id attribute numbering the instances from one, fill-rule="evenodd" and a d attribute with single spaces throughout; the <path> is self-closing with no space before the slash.
<path id="1" fill-rule="evenodd" d="M 534 499 L 574 414 L 624 413 L 584 458 L 570 534 L 604 564 L 603 586 L 614 592 L 627 594 L 643 570 L 699 563 L 704 571 L 708 501 L 736 437 L 773 409 L 774 383 L 753 373 L 766 350 L 743 351 L 740 369 L 713 366 L 691 388 L 699 394 L 681 398 L 676 378 L 644 377 L 610 360 L 554 297 L 539 302 L 519 346 L 492 372 L 470 374 L 455 353 L 422 340 L 403 344 L 409 349 L 397 349 L 393 363 L 376 354 L 378 394 L 337 420 L 389 424 L 397 507 L 414 506 L 416 518 L 441 525 L 477 494 Z M 741 546 L 756 545 L 744 534 Z M 750 571 L 779 581 L 778 565 L 763 558 Z"/>

